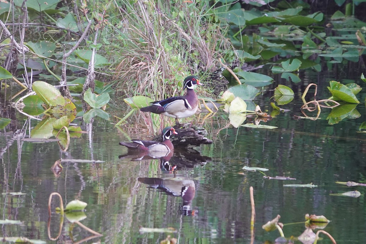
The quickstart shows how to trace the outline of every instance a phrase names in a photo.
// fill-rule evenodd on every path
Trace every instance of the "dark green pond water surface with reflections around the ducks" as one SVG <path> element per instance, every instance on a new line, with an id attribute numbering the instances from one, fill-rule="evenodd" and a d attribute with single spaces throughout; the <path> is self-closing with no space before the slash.
<path id="1" fill-rule="evenodd" d="M 321 84 L 317 98 L 328 98 L 326 85 L 335 77 L 305 74 L 303 81 L 310 83 L 315 79 Z M 336 125 L 329 125 L 325 119 L 329 109 L 323 109 L 321 119 L 316 121 L 295 120 L 294 114 L 301 115 L 299 95 L 305 86 L 292 86 L 295 102 L 283 106 L 292 111 L 281 113 L 266 123 L 278 129 L 225 128 L 228 123 L 225 114 L 206 121 L 204 127 L 213 144 L 195 148 L 206 157 L 206 162 L 193 165 L 173 157 L 169 162 L 177 165 L 176 174 L 161 169 L 159 160 L 119 159 L 127 150 L 118 142 L 128 138 L 109 121 L 100 119 L 88 127 L 76 119 L 74 122 L 90 133 L 72 138 L 67 152 L 61 152 L 57 142 L 23 141 L 22 138 L 29 135 L 29 126 L 33 128 L 37 121 L 32 119 L 29 124 L 17 115 L 18 121 L 0 132 L 0 181 L 2 192 L 25 195 L 0 195 L 0 213 L 3 219 L 20 220 L 23 224 L 3 225 L 2 235 L 56 243 L 48 238 L 47 208 L 51 192 L 59 192 L 64 204 L 74 199 L 88 204 L 87 217 L 80 222 L 103 235 L 88 243 L 160 243 L 168 235 L 139 233 L 140 226 L 173 227 L 177 233 L 169 235 L 176 237 L 179 243 L 250 243 L 249 187 L 253 186 L 255 243 L 266 240 L 275 243 L 279 232 L 268 233 L 261 226 L 277 214 L 281 216 L 280 222 L 287 224 L 305 221 L 307 213 L 324 215 L 331 220 L 324 230 L 337 243 L 363 243 L 366 239 L 365 189 L 335 182 L 366 183 L 366 134 L 358 133 L 359 126 L 366 121 L 365 104 L 357 106 L 360 118 L 344 119 Z M 255 100 L 264 111 L 272 111 L 268 102 L 271 93 Z M 358 95 L 360 101 L 365 99 L 362 94 L 364 90 Z M 122 117 L 123 113 L 118 111 L 115 115 Z M 314 113 L 312 115 L 315 117 Z M 252 120 L 248 118 L 245 123 Z M 134 128 L 131 124 L 122 129 L 131 138 L 146 138 L 148 134 L 146 128 Z M 65 160 L 64 168 L 56 177 L 51 166 L 59 159 Z M 104 163 L 75 163 L 72 161 L 75 159 Z M 264 179 L 259 172 L 243 171 L 245 165 L 268 168 L 267 176 L 290 176 L 296 180 Z M 238 174 L 240 172 L 244 174 Z M 194 183 L 195 196 L 188 211 L 182 209 L 182 197 L 148 187 L 138 180 L 174 176 Z M 284 184 L 308 183 L 318 187 L 284 187 Z M 330 195 L 351 190 L 361 192 L 361 197 Z M 58 205 L 56 198 L 54 200 L 53 209 Z M 59 215 L 53 213 L 52 237 L 57 236 L 59 223 Z M 77 242 L 91 235 L 76 224 L 72 226 L 64 220 L 58 242 L 64 243 L 71 236 Z M 286 237 L 299 236 L 303 230 L 304 224 L 283 228 Z M 324 240 L 318 243 L 331 243 L 324 235 L 321 237 Z"/>

